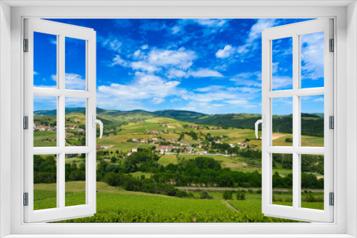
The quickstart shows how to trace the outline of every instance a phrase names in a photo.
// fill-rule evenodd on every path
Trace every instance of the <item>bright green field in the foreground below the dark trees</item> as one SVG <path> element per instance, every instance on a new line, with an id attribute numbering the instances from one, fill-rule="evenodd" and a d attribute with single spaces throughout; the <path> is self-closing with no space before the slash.
<path id="1" fill-rule="evenodd" d="M 84 204 L 84 182 L 66 182 L 66 206 Z M 56 207 L 56 185 L 36 184 L 35 209 Z M 210 192 L 213 200 L 177 198 L 129 192 L 97 182 L 97 212 L 93 217 L 62 222 L 294 222 L 265 217 L 261 213 L 261 195 L 246 193 L 245 201 L 223 200 L 223 192 Z M 233 194 L 233 199 L 234 198 Z M 286 196 L 286 195 L 281 195 Z M 277 202 L 291 205 L 291 202 Z M 303 207 L 321 209 L 322 202 L 303 202 Z"/>

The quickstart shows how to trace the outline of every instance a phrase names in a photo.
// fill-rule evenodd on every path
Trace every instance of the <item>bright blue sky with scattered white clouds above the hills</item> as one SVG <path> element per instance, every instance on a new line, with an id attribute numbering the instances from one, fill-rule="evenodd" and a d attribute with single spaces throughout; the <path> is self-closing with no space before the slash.
<path id="1" fill-rule="evenodd" d="M 305 20 L 51 21 L 85 26 L 96 31 L 99 108 L 176 109 L 218 114 L 261 113 L 261 31 Z M 34 85 L 56 87 L 56 37 L 43 33 L 36 33 L 34 37 Z M 302 88 L 323 86 L 321 42 L 321 33 L 301 36 Z M 273 90 L 291 88 L 291 43 L 291 38 L 273 41 Z M 84 53 L 84 41 L 66 38 L 67 89 L 85 88 Z M 323 112 L 323 96 L 303 100 L 308 102 L 309 107 L 302 110 Z M 66 100 L 66 106 L 81 105 L 83 103 L 75 98 Z M 289 114 L 291 106 L 290 100 L 276 100 L 274 114 Z M 34 110 L 55 107 L 51 100 L 35 98 Z"/>

